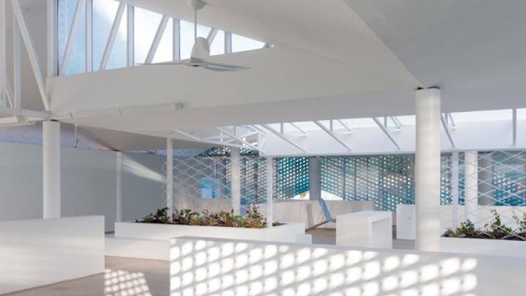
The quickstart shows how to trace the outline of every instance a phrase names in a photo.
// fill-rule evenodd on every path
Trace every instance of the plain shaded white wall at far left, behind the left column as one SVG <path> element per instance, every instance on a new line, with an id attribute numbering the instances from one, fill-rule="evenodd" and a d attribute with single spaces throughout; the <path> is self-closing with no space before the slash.
<path id="1" fill-rule="evenodd" d="M 61 148 L 61 214 L 104 215 L 113 230 L 117 152 Z M 164 204 L 164 157 L 123 155 L 123 218 L 145 216 Z M 42 146 L 0 142 L 0 221 L 42 218 Z"/>

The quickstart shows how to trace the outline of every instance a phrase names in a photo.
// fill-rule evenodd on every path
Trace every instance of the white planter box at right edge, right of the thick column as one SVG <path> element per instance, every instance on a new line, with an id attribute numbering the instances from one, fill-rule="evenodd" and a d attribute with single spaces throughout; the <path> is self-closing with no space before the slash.
<path id="1" fill-rule="evenodd" d="M 526 258 L 526 242 L 483 238 L 440 238 L 440 251 Z"/>

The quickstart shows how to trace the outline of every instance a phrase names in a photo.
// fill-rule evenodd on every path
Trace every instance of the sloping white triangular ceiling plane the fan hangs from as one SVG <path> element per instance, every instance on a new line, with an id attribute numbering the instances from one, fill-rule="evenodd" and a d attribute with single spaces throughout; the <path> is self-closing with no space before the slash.
<path id="1" fill-rule="evenodd" d="M 198 22 L 420 86 L 420 82 L 341 0 L 206 0 Z M 127 3 L 193 21 L 187 0 Z"/>

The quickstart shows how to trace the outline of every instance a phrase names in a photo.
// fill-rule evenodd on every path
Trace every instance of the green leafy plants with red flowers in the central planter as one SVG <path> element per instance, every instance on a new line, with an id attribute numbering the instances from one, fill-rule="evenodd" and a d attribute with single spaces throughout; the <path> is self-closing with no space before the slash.
<path id="1" fill-rule="evenodd" d="M 244 228 L 266 228 L 267 219 L 259 211 L 259 207 L 253 205 L 252 209 L 246 211 L 246 216 L 234 214 L 234 210 L 220 211 L 218 213 L 204 210 L 201 213 L 193 211 L 192 209 L 174 210 L 172 221 L 168 218 L 168 208 L 158 209 L 157 213 L 149 214 L 141 220 L 136 220 L 138 223 L 173 223 L 181 225 L 195 225 L 195 226 L 223 226 L 223 227 L 244 227 Z M 280 223 L 273 223 L 274 226 L 279 226 Z"/>

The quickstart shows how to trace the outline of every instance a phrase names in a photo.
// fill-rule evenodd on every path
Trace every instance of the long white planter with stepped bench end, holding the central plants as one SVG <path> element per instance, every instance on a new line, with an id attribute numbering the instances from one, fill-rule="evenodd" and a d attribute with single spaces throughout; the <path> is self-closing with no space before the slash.
<path id="1" fill-rule="evenodd" d="M 238 228 L 120 222 L 115 236 L 106 238 L 106 255 L 143 259 L 170 259 L 170 238 L 192 235 L 200 238 L 246 239 L 310 244 L 303 223 L 285 223 L 269 228 Z"/>

